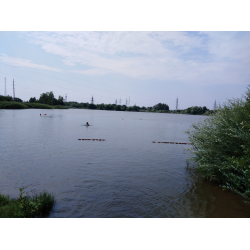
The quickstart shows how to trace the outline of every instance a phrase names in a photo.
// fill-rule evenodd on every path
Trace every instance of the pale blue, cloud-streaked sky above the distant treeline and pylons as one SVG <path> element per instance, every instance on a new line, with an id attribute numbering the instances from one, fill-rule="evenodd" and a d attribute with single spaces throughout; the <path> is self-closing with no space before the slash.
<path id="1" fill-rule="evenodd" d="M 249 31 L 0 31 L 0 95 L 213 109 L 250 84 Z"/>

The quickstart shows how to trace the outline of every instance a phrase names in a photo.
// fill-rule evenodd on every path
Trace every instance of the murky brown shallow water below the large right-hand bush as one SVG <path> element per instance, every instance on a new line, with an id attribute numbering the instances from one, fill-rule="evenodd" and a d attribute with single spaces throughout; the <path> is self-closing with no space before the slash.
<path id="1" fill-rule="evenodd" d="M 181 195 L 186 216 L 193 218 L 250 218 L 250 205 L 244 198 L 218 183 L 199 177 L 187 192 Z M 190 211 L 191 214 L 190 214 Z"/>

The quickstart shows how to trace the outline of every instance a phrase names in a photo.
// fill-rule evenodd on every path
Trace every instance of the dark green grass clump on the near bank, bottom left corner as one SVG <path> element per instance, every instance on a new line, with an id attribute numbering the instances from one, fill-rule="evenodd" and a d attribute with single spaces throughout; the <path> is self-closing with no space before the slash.
<path id="1" fill-rule="evenodd" d="M 19 198 L 0 194 L 0 218 L 39 218 L 47 215 L 55 200 L 46 191 L 34 196 L 24 196 L 20 189 Z"/>

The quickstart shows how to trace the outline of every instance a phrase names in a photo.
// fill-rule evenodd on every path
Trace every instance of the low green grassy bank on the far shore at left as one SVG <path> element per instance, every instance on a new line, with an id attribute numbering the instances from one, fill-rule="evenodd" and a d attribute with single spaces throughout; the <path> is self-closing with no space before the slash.
<path id="1" fill-rule="evenodd" d="M 2 101 L 0 102 L 0 109 L 68 109 L 67 106 L 56 105 L 51 106 L 47 104 L 41 103 L 20 103 L 20 102 L 8 102 Z"/>

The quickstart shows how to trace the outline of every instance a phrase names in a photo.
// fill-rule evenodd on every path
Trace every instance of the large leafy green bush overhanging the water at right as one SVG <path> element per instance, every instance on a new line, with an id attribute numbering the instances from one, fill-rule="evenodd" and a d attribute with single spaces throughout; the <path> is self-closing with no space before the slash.
<path id="1" fill-rule="evenodd" d="M 250 199 L 250 92 L 193 124 L 189 140 L 198 172 Z"/>

